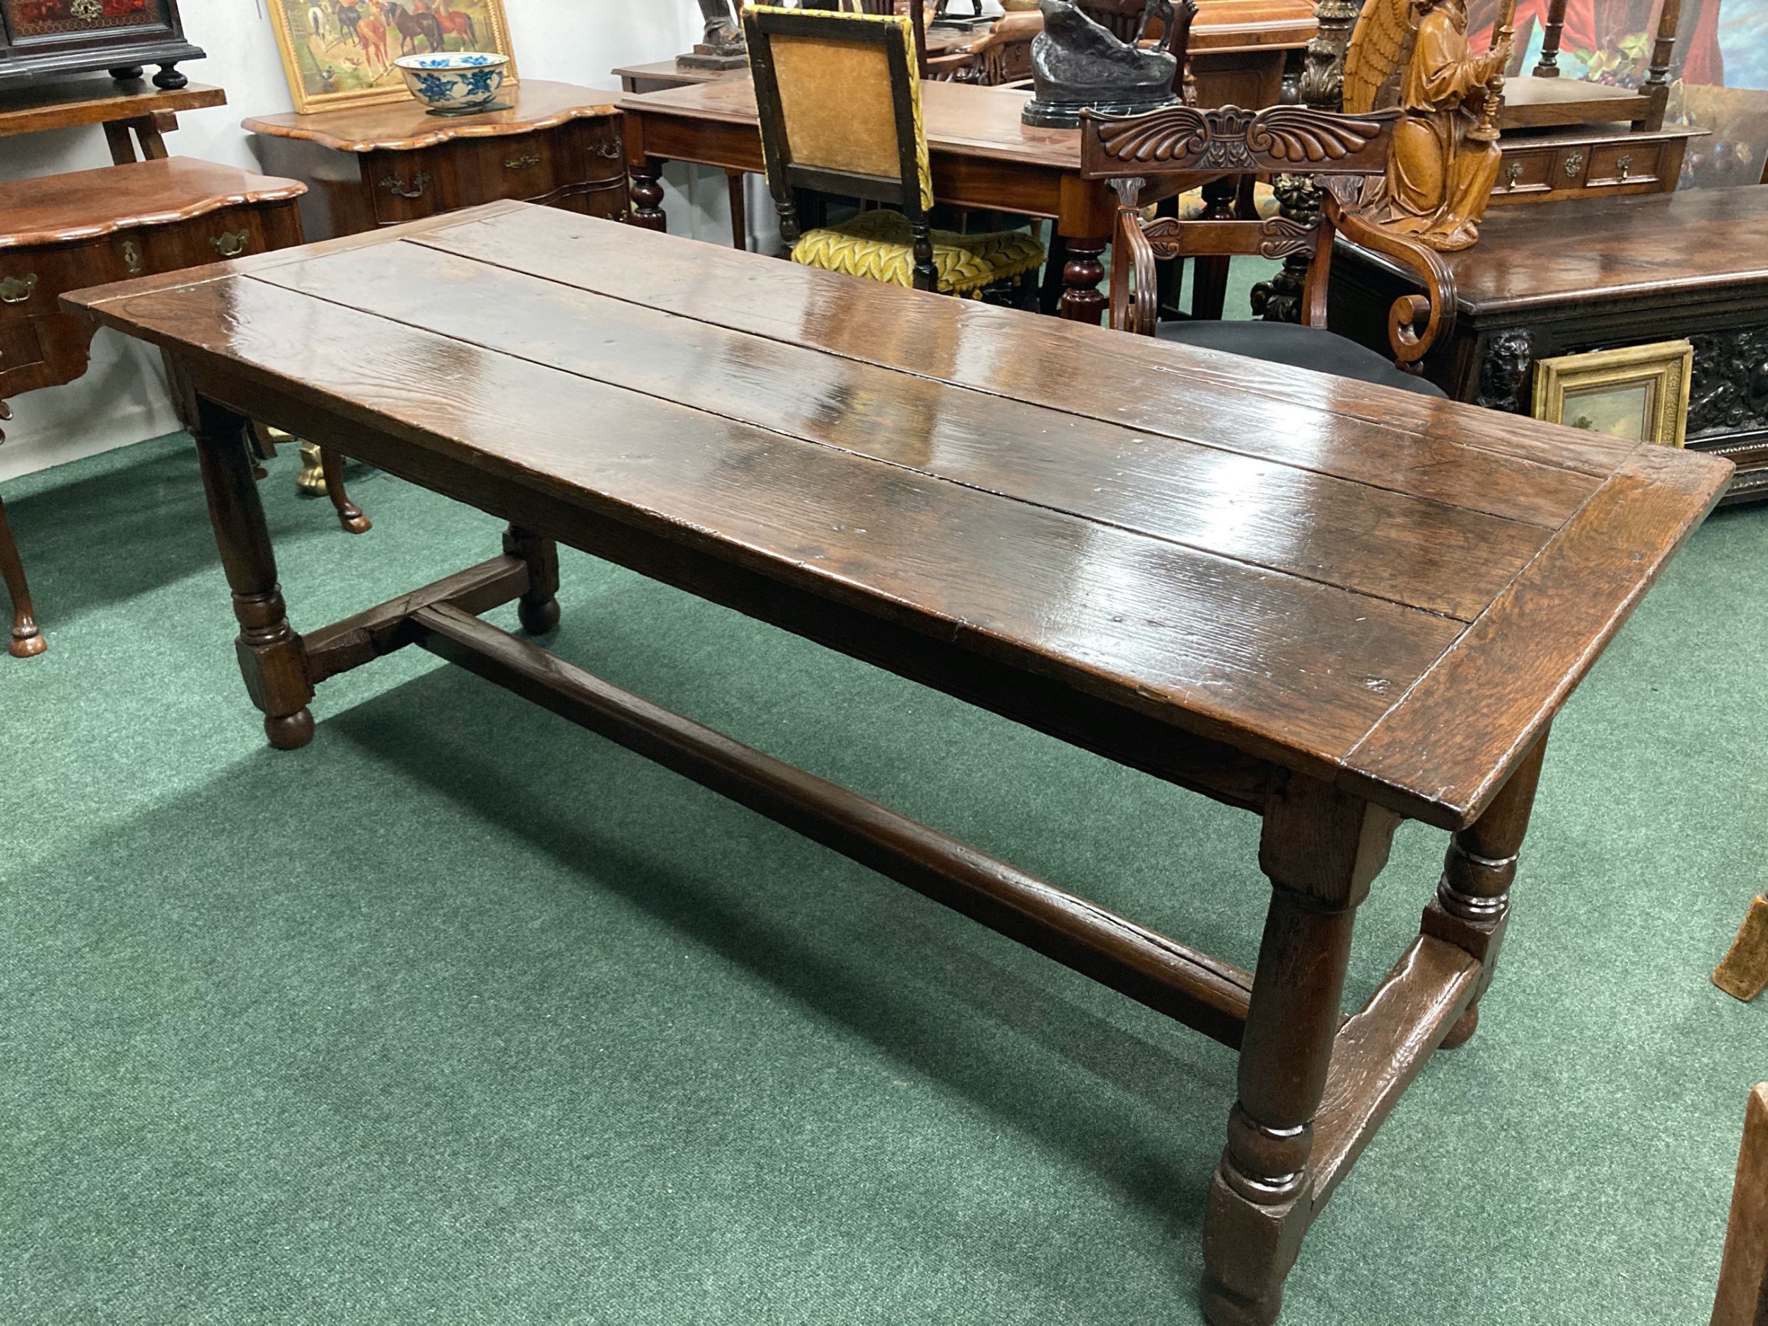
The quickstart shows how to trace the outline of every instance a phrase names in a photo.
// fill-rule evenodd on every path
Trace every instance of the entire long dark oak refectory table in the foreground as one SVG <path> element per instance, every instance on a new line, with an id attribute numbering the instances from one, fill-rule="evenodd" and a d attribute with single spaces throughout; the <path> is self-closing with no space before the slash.
<path id="1" fill-rule="evenodd" d="M 67 302 L 171 355 L 274 746 L 417 645 L 1238 1047 L 1218 1326 L 1276 1317 L 1308 1223 L 1473 1033 L 1549 723 L 1731 472 L 520 203 Z M 502 555 L 297 635 L 249 419 L 511 522 Z M 557 622 L 553 539 L 1261 815 L 1257 972 L 481 621 Z M 1345 1020 L 1402 819 L 1453 831 L 1448 865 Z"/>

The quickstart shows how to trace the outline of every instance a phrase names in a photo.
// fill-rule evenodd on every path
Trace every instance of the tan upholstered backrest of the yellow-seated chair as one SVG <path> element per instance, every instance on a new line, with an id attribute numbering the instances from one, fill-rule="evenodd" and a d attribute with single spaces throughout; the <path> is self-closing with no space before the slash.
<path id="1" fill-rule="evenodd" d="M 909 21 L 753 5 L 743 28 L 787 244 L 799 233 L 799 189 L 886 203 L 925 225 L 934 175 Z"/>

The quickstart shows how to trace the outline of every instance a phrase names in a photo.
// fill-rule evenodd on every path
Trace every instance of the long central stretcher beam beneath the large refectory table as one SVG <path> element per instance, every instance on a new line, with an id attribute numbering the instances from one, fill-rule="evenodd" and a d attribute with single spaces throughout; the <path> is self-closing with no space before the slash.
<path id="1" fill-rule="evenodd" d="M 1252 976 L 935 829 L 670 713 L 449 605 L 421 647 L 964 912 L 1158 1013 L 1239 1047 Z"/>

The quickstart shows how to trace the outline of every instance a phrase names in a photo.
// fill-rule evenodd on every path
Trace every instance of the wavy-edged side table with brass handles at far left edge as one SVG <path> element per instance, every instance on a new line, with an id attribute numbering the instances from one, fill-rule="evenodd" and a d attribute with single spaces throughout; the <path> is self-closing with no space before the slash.
<path id="1" fill-rule="evenodd" d="M 301 242 L 297 180 L 170 157 L 0 184 L 0 415 L 5 398 L 72 382 L 95 331 L 60 311 L 64 292 L 239 258 Z M 336 470 L 336 456 L 327 463 Z M 343 483 L 345 529 L 366 529 Z M 0 509 L 0 571 L 12 598 L 14 658 L 41 654 L 25 568 Z"/>

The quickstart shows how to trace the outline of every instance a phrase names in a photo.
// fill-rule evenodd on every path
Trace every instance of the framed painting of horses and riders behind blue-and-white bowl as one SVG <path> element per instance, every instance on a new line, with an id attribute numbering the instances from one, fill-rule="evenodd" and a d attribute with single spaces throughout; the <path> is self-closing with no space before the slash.
<path id="1" fill-rule="evenodd" d="M 392 62 L 430 51 L 514 51 L 504 0 L 263 0 L 295 111 L 408 97 Z"/>

